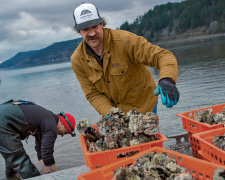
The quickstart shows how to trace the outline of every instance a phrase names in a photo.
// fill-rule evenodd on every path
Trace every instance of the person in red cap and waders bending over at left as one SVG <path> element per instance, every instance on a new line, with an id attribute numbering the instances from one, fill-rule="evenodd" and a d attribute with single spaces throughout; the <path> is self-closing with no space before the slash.
<path id="1" fill-rule="evenodd" d="M 72 115 L 57 115 L 30 101 L 0 104 L 0 153 L 5 159 L 6 178 L 16 174 L 23 179 L 40 175 L 21 142 L 29 135 L 35 136 L 35 149 L 44 173 L 57 171 L 53 156 L 56 137 L 75 135 L 75 125 Z"/>

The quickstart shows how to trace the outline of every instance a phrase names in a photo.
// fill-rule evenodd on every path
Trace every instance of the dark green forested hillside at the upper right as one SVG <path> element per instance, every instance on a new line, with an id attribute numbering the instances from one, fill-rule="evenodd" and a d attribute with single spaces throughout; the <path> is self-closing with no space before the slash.
<path id="1" fill-rule="evenodd" d="M 120 29 L 134 32 L 150 41 L 182 34 L 215 34 L 225 32 L 225 0 L 186 0 L 155 6 L 134 22 Z"/>

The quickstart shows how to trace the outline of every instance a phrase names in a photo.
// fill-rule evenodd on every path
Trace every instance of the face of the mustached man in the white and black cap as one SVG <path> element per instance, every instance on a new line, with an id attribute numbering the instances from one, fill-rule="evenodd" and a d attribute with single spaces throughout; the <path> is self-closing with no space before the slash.
<path id="1" fill-rule="evenodd" d="M 87 29 L 82 29 L 79 33 L 92 49 L 100 47 L 100 45 L 103 43 L 102 24 Z"/>

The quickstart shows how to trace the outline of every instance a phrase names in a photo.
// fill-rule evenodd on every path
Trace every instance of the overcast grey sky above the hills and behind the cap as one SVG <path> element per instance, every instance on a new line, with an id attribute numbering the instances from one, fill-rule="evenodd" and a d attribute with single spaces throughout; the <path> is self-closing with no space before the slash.
<path id="1" fill-rule="evenodd" d="M 155 5 L 181 0 L 1 0 L 0 62 L 21 51 L 42 49 L 80 37 L 73 31 L 73 10 L 95 4 L 109 28 L 131 23 Z"/>

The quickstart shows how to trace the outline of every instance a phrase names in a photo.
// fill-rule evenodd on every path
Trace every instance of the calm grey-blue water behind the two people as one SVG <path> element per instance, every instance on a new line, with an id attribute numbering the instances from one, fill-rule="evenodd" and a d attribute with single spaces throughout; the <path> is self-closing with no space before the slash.
<path id="1" fill-rule="evenodd" d="M 224 40 L 180 46 L 172 51 L 179 64 L 177 87 L 181 97 L 172 109 L 162 106 L 159 99 L 159 126 L 166 136 L 185 132 L 177 113 L 225 102 Z M 157 82 L 158 72 L 151 71 Z M 0 103 L 9 99 L 26 99 L 55 113 L 69 112 L 77 120 L 88 118 L 92 123 L 99 120 L 98 113 L 85 99 L 70 63 L 0 71 L 0 79 Z M 170 140 L 165 146 L 171 143 Z M 42 172 L 34 150 L 34 138 L 29 137 L 24 147 Z M 58 137 L 54 155 L 59 170 L 83 165 L 79 136 Z M 0 179 L 5 179 L 4 166 L 0 155 Z"/>

